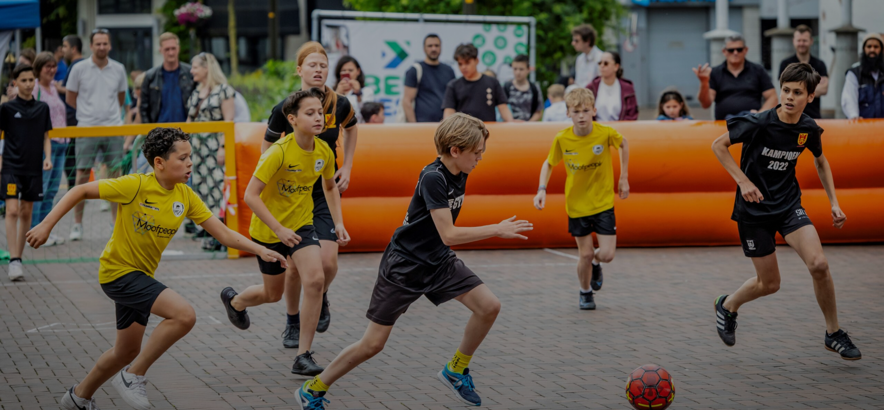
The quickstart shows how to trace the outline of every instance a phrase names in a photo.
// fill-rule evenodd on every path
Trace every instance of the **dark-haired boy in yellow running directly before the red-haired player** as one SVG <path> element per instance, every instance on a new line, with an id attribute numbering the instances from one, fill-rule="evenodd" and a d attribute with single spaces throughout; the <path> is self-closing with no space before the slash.
<path id="1" fill-rule="evenodd" d="M 316 376 L 323 371 L 310 352 L 325 284 L 319 238 L 313 226 L 312 190 L 318 178 L 323 179 L 338 245 L 343 247 L 350 241 L 334 181 L 334 154 L 316 137 L 325 129 L 323 98 L 319 88 L 296 91 L 286 98 L 282 112 L 293 133 L 264 151 L 243 198 L 254 212 L 248 228 L 252 240 L 285 254 L 291 274 L 301 278 L 301 345 L 292 367 L 292 373 L 301 376 Z M 275 303 L 286 289 L 285 264 L 258 260 L 258 269 L 263 274 L 263 285 L 249 286 L 242 293 L 232 287 L 221 291 L 227 317 L 240 329 L 248 329 L 250 324 L 246 308 Z"/>

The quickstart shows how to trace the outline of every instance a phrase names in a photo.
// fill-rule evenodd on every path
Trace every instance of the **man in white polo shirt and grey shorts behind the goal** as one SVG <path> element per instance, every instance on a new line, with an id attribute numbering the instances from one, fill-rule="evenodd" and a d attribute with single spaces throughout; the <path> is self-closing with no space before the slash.
<path id="1" fill-rule="evenodd" d="M 126 103 L 126 67 L 108 58 L 110 33 L 96 28 L 89 36 L 92 57 L 71 68 L 67 80 L 68 105 L 77 110 L 77 126 L 123 125 L 120 106 Z M 90 137 L 77 140 L 74 156 L 77 163 L 77 185 L 89 180 L 89 170 L 95 165 L 98 152 L 103 152 L 103 163 L 109 167 L 119 163 L 125 154 L 123 137 Z M 113 177 L 109 175 L 109 177 Z M 83 238 L 83 207 L 74 209 L 71 240 Z M 117 218 L 117 207 L 111 207 L 111 224 Z"/>

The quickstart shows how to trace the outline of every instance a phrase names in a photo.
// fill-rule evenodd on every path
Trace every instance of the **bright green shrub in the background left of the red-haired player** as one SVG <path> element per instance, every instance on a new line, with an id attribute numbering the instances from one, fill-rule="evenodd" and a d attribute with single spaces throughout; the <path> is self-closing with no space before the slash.
<path id="1" fill-rule="evenodd" d="M 266 121 L 273 106 L 292 91 L 301 88 L 294 61 L 269 60 L 263 67 L 246 74 L 233 74 L 228 82 L 246 98 L 252 121 Z"/>

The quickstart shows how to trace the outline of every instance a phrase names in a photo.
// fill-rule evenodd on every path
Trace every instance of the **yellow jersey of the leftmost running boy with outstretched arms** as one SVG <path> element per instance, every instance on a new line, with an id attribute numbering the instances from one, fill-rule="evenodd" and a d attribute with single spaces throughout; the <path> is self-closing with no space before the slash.
<path id="1" fill-rule="evenodd" d="M 154 276 L 156 264 L 184 218 L 202 224 L 212 216 L 199 195 L 185 184 L 169 191 L 153 172 L 102 179 L 98 194 L 118 202 L 117 222 L 99 261 L 98 282 L 106 284 L 133 270 Z"/>

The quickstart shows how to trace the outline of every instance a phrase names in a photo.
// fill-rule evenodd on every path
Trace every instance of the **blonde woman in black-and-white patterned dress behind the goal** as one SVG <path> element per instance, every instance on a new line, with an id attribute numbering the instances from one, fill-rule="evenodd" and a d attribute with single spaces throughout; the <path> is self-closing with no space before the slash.
<path id="1" fill-rule="evenodd" d="M 232 121 L 235 91 L 227 84 L 215 56 L 200 53 L 191 61 L 190 73 L 196 87 L 187 99 L 187 122 Z M 214 215 L 218 215 L 224 201 L 225 142 L 223 133 L 193 133 L 194 171 L 192 186 Z M 204 232 L 201 232 L 204 234 Z M 217 241 L 205 237 L 203 249 L 219 250 Z"/>

